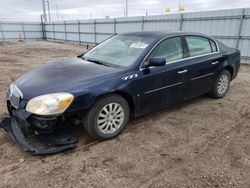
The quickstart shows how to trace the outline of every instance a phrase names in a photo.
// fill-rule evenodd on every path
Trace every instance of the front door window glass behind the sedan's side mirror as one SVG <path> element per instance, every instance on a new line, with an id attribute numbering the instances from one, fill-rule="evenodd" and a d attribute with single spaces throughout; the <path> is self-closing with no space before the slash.
<path id="1" fill-rule="evenodd" d="M 166 39 L 161 42 L 152 52 L 151 57 L 164 58 L 171 62 L 183 58 L 183 49 L 180 37 Z"/>

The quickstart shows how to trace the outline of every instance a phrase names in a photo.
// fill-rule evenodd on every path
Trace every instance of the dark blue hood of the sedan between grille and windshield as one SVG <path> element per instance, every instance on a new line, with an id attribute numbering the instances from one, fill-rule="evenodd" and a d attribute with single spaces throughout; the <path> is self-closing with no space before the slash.
<path id="1" fill-rule="evenodd" d="M 27 71 L 15 80 L 23 98 L 56 92 L 77 92 L 87 85 L 103 81 L 122 69 L 107 67 L 81 58 L 68 58 Z"/>

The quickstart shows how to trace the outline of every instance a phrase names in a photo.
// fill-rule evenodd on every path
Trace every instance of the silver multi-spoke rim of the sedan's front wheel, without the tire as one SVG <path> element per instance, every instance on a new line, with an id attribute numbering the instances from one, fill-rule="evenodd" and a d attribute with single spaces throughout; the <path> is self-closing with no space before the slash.
<path id="1" fill-rule="evenodd" d="M 110 103 L 101 109 L 97 117 L 97 127 L 103 134 L 112 134 L 121 127 L 123 121 L 123 107 L 118 103 Z"/>

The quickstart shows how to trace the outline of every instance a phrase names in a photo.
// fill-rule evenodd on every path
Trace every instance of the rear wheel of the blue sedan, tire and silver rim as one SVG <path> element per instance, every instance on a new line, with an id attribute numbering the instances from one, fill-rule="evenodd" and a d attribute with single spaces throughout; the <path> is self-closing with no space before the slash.
<path id="1" fill-rule="evenodd" d="M 230 87 L 230 82 L 231 82 L 231 74 L 228 70 L 222 71 L 213 86 L 213 89 L 210 92 L 210 95 L 215 98 L 215 99 L 220 99 L 223 98 L 229 87 Z"/>

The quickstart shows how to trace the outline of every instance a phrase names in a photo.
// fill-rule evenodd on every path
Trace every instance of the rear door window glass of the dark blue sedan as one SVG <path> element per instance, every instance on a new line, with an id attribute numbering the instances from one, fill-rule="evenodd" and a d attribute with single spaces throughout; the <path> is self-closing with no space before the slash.
<path id="1" fill-rule="evenodd" d="M 208 54 L 212 52 L 209 40 L 204 37 L 186 36 L 190 56 Z"/>

